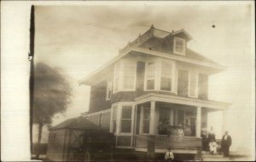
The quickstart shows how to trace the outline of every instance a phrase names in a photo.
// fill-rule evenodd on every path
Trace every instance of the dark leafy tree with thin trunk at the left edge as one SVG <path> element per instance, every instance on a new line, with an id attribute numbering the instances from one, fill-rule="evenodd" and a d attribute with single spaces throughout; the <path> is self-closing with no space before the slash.
<path id="1" fill-rule="evenodd" d="M 66 111 L 72 90 L 64 75 L 47 64 L 36 64 L 34 74 L 32 123 L 38 125 L 39 148 L 43 126 L 51 124 L 55 114 Z"/>

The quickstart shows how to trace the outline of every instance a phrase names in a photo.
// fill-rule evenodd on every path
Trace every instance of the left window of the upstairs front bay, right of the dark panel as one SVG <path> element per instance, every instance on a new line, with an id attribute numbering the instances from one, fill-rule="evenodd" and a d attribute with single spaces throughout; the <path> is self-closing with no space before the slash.
<path id="1" fill-rule="evenodd" d="M 154 90 L 155 64 L 148 63 L 146 70 L 146 90 Z"/>

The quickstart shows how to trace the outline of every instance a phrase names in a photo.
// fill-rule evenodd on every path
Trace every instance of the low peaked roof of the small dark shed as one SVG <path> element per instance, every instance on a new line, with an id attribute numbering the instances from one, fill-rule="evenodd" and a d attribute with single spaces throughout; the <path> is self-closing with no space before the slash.
<path id="1" fill-rule="evenodd" d="M 83 116 L 65 120 L 59 125 L 52 127 L 50 130 L 57 129 L 102 130 L 100 126 L 90 122 L 90 120 L 86 120 Z"/>

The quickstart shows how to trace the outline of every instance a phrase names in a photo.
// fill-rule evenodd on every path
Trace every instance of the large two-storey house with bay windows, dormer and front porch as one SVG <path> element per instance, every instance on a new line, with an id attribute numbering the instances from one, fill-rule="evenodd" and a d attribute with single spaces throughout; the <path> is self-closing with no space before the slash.
<path id="1" fill-rule="evenodd" d="M 183 29 L 168 32 L 152 25 L 80 81 L 91 87 L 84 116 L 113 132 L 116 148 L 164 153 L 171 147 L 177 153 L 195 153 L 208 113 L 222 111 L 226 120 L 230 103 L 208 98 L 209 76 L 225 67 L 189 49 L 191 39 Z M 185 125 L 189 133 L 167 136 L 160 132 L 162 122 L 172 131 Z"/>

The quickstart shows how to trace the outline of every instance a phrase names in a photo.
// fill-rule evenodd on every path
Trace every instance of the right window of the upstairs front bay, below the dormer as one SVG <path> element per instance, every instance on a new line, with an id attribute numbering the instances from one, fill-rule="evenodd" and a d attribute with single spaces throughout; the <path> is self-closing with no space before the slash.
<path id="1" fill-rule="evenodd" d="M 160 88 L 163 91 L 172 90 L 172 64 L 170 63 L 162 62 Z"/>

